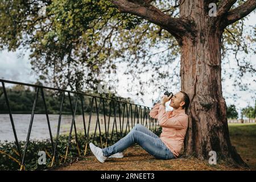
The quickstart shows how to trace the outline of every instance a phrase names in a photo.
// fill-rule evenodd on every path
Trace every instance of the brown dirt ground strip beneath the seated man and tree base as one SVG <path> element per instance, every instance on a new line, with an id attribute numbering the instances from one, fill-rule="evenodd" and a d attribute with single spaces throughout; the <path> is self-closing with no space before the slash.
<path id="1" fill-rule="evenodd" d="M 216 171 L 216 170 L 250 170 L 247 168 L 235 168 L 225 166 L 224 164 L 210 165 L 207 160 L 199 160 L 195 158 L 178 158 L 172 160 L 159 160 L 155 159 L 140 146 L 136 145 L 127 148 L 123 152 L 124 158 L 122 159 L 107 159 L 105 163 L 100 163 L 94 155 L 88 155 L 81 158 L 79 161 L 72 164 L 65 164 L 54 170 L 57 171 L 123 171 L 123 170 L 141 170 L 141 171 Z"/>

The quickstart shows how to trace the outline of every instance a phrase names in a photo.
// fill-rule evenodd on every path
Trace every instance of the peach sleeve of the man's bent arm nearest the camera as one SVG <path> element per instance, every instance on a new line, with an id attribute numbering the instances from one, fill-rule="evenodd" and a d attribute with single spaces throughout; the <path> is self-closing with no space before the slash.
<path id="1" fill-rule="evenodd" d="M 180 115 L 179 117 L 168 118 L 166 114 L 166 109 L 163 105 L 159 106 L 158 121 L 160 126 L 167 128 L 187 129 L 188 126 L 187 116 Z"/>

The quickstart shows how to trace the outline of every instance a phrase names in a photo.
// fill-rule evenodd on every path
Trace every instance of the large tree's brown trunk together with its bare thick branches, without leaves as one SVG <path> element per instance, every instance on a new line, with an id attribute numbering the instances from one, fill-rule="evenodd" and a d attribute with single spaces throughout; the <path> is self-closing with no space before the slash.
<path id="1" fill-rule="evenodd" d="M 175 37 L 181 47 L 181 90 L 191 98 L 185 150 L 207 159 L 216 151 L 224 159 L 244 164 L 230 142 L 226 118 L 226 102 L 221 86 L 221 38 L 227 26 L 245 17 L 256 8 L 248 0 L 236 9 L 237 0 L 181 0 L 179 18 L 172 18 L 151 0 L 111 0 L 123 13 L 130 13 L 158 24 Z M 216 16 L 209 16 L 209 3 L 218 2 Z"/>

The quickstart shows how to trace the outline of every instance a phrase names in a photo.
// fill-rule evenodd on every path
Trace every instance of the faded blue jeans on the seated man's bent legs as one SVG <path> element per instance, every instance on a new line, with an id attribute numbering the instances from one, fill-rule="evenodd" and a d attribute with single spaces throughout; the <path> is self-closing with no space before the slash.
<path id="1" fill-rule="evenodd" d="M 138 143 L 149 154 L 153 155 L 156 159 L 174 159 L 174 154 L 166 147 L 162 140 L 148 130 L 143 125 L 137 124 L 133 129 L 122 139 L 112 146 L 102 149 L 105 157 L 113 155 L 117 152 L 122 152 L 134 143 Z"/>

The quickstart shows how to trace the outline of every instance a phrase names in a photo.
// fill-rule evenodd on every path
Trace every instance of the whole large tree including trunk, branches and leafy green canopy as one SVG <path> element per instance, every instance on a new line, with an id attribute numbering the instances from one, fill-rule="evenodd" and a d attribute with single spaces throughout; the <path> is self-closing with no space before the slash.
<path id="1" fill-rule="evenodd" d="M 32 0 L 0 2 L 1 49 L 29 48 L 40 78 L 73 89 L 95 86 L 99 73 L 115 69 L 117 59 L 127 63 L 127 73 L 134 77 L 152 69 L 152 75 L 171 80 L 170 72 L 159 70 L 166 65 L 174 71 L 172 63 L 180 55 L 177 75 L 181 90 L 191 98 L 185 153 L 208 159 L 214 150 L 220 159 L 246 165 L 229 139 L 221 64 L 226 51 L 234 48 L 241 76 L 255 73 L 237 58 L 241 49 L 250 49 L 243 41 L 243 18 L 255 9 L 255 0 L 43 2 L 45 16 L 38 16 L 40 7 Z M 217 5 L 216 16 L 209 16 L 210 3 Z M 152 53 L 156 48 L 162 51 Z"/>

